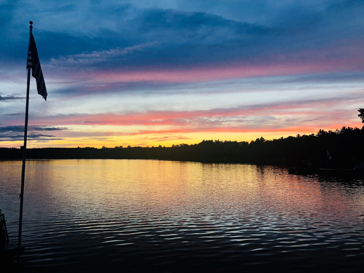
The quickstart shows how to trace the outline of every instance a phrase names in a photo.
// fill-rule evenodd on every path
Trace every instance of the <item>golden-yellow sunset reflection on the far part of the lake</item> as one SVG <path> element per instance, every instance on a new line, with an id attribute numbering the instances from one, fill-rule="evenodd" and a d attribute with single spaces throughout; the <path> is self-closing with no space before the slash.
<path id="1" fill-rule="evenodd" d="M 0 166 L 5 173 L 13 173 L 20 187 L 21 162 Z M 273 217 L 270 215 L 284 214 L 289 217 L 282 221 L 290 221 L 297 215 L 304 218 L 315 213 L 345 217 L 353 203 L 364 206 L 360 200 L 363 198 L 352 198 L 343 185 L 256 165 L 30 160 L 25 176 L 25 202 L 33 210 L 68 211 L 79 217 L 102 211 L 105 217 L 203 213 L 238 218 L 264 215 L 267 220 Z"/>

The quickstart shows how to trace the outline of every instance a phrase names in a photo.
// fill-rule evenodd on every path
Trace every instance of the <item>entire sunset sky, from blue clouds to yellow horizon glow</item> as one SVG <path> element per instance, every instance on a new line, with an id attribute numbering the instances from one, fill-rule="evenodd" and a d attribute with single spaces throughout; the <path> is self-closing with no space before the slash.
<path id="1" fill-rule="evenodd" d="M 363 126 L 363 0 L 0 0 L 0 147 L 252 141 Z"/>

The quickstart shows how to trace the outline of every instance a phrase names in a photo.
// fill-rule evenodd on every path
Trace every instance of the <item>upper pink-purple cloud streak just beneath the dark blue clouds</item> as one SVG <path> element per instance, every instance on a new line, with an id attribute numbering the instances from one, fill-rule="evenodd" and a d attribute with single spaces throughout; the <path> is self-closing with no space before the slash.
<path id="1" fill-rule="evenodd" d="M 96 82 L 166 82 L 188 83 L 257 76 L 278 76 L 343 71 L 363 71 L 362 44 L 322 51 L 304 51 L 288 55 L 268 56 L 256 63 L 244 60 L 233 64 L 184 69 L 156 70 L 152 68 L 135 71 L 91 71 L 87 75 Z M 85 75 L 85 77 L 87 77 Z"/>

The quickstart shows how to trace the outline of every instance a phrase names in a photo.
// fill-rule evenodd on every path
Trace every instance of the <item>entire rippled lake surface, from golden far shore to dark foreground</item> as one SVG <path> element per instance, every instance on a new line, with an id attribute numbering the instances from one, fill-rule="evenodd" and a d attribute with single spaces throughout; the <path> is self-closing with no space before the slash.
<path id="1" fill-rule="evenodd" d="M 16 246 L 21 162 L 0 162 L 0 174 Z M 22 242 L 25 272 L 356 272 L 363 180 L 255 165 L 27 161 Z"/>

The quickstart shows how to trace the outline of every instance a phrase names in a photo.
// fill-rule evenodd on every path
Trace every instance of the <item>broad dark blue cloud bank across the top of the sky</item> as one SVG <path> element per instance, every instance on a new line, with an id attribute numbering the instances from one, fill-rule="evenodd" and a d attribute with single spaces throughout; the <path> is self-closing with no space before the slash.
<path id="1" fill-rule="evenodd" d="M 133 70 L 230 62 L 277 63 L 277 55 L 323 50 L 337 45 L 335 41 L 343 43 L 354 36 L 360 39 L 364 31 L 361 1 L 231 1 L 224 5 L 197 1 L 191 8 L 183 8 L 183 3 L 165 5 L 156 1 L 150 5 L 154 8 L 142 8 L 147 3 L 50 2 L 33 28 L 41 64 L 52 59 L 62 67 Z M 8 8 L 9 20 L 15 20 L 15 7 L 19 9 L 19 5 Z M 57 20 L 52 20 L 55 14 Z M 42 25 L 44 22 L 49 26 Z M 28 29 L 24 22 L 13 23 L 5 23 L 8 36 L 0 46 L 6 50 L 0 52 L 0 57 L 20 62 L 27 47 Z M 138 46 L 139 50 L 125 51 Z M 112 50 L 120 54 L 110 54 Z M 87 56 L 100 52 L 99 58 Z M 83 58 L 80 54 L 86 55 Z"/>

